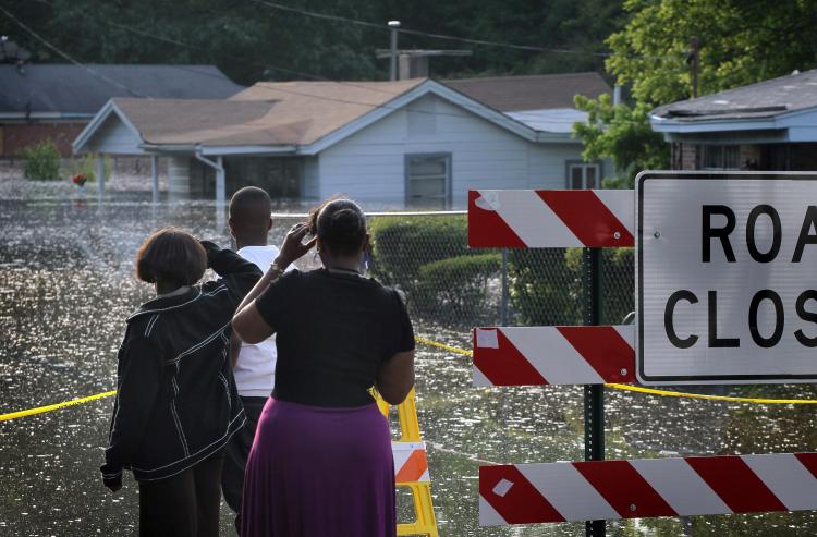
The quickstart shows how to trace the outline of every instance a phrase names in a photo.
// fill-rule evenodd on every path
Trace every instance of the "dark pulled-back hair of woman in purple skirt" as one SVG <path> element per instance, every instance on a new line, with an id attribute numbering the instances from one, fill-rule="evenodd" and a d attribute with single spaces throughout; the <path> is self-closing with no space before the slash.
<path id="1" fill-rule="evenodd" d="M 366 217 L 351 199 L 327 199 L 309 212 L 309 232 L 330 254 L 353 255 L 366 239 Z"/>

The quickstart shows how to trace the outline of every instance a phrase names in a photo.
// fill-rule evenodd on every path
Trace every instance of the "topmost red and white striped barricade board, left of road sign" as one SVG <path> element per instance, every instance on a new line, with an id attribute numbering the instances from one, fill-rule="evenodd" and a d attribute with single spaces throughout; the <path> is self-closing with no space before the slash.
<path id="1" fill-rule="evenodd" d="M 472 247 L 632 247 L 634 231 L 633 191 L 468 191 Z"/>

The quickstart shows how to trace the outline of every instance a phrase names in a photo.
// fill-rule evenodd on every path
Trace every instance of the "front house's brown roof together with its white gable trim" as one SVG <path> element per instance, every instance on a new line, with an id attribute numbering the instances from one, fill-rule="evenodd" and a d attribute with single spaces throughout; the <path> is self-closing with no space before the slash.
<path id="1" fill-rule="evenodd" d="M 278 152 L 285 146 L 315 155 L 428 94 L 528 141 L 538 139 L 536 131 L 516 119 L 440 83 L 416 78 L 261 83 L 227 100 L 112 99 L 77 137 L 74 149 L 87 150 L 95 131 L 117 113 L 148 149 L 196 146 L 204 154 L 225 155 Z"/>

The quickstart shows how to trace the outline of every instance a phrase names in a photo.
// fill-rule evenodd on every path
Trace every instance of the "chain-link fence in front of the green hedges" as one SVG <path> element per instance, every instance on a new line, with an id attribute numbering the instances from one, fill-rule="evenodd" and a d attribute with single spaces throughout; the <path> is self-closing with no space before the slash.
<path id="1" fill-rule="evenodd" d="M 277 244 L 305 215 L 273 215 Z M 581 325 L 586 282 L 582 248 L 501 249 L 467 246 L 464 212 L 392 212 L 368 216 L 369 274 L 405 294 L 418 325 Z M 314 255 L 301 269 L 320 266 Z M 634 309 L 632 248 L 601 256 L 601 321 L 620 324 Z"/>

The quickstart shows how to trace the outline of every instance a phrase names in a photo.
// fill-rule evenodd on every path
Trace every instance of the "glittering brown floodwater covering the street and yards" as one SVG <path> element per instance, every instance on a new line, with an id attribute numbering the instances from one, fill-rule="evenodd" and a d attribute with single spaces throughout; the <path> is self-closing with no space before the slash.
<path id="1" fill-rule="evenodd" d="M 207 203 L 151 207 L 139 195 L 0 199 L 0 414 L 110 390 L 124 319 L 151 295 L 134 277 L 136 247 L 172 224 L 222 245 Z M 301 210 L 301 208 L 298 208 Z M 289 224 L 286 224 L 289 227 Z M 277 236 L 284 228 L 277 225 Z M 452 282 L 453 283 L 453 282 Z M 419 335 L 468 349 L 465 330 L 416 324 Z M 810 386 L 734 394 L 813 398 Z M 583 524 L 480 528 L 481 462 L 580 460 L 582 390 L 475 389 L 468 359 L 420 345 L 418 415 L 435 513 L 444 536 L 580 536 Z M 0 536 L 133 535 L 137 490 L 110 493 L 98 467 L 111 399 L 0 423 Z M 817 450 L 809 405 L 758 406 L 607 390 L 607 456 Z M 401 518 L 408 520 L 401 493 Z M 234 535 L 223 508 L 222 535 Z M 611 536 L 817 535 L 812 512 L 608 523 Z"/>

